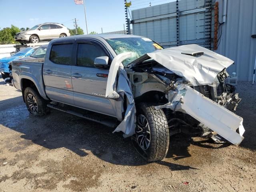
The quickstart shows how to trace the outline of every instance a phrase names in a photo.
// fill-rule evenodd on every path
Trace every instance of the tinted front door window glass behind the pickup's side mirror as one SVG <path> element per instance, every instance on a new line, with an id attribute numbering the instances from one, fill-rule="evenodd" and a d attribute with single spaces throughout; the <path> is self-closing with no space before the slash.
<path id="1" fill-rule="evenodd" d="M 94 44 L 78 44 L 77 66 L 94 67 L 96 57 L 107 56 L 102 48 Z"/>

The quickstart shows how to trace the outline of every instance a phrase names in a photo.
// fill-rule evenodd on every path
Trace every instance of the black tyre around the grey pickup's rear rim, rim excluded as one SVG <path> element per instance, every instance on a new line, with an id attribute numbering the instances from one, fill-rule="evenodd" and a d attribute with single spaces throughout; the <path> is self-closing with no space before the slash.
<path id="1" fill-rule="evenodd" d="M 37 106 L 38 106 L 37 113 L 34 113 L 32 110 L 30 110 L 30 107 L 28 105 L 28 95 L 29 94 L 31 94 L 36 100 L 36 103 L 37 103 Z M 48 114 L 48 112 L 50 111 L 50 109 L 47 107 L 47 101 L 44 100 L 44 98 L 42 98 L 40 96 L 40 94 L 38 93 L 36 88 L 27 87 L 24 90 L 24 100 L 25 100 L 26 106 L 28 108 L 28 111 L 33 116 L 43 116 L 43 115 Z"/>

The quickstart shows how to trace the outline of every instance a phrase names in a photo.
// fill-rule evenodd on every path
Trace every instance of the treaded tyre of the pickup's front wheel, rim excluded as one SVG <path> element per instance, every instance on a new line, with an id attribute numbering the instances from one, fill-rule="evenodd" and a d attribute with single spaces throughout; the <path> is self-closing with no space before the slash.
<path id="1" fill-rule="evenodd" d="M 156 110 L 154 104 L 140 103 L 137 115 L 143 114 L 150 127 L 150 145 L 146 152 L 148 162 L 160 161 L 166 157 L 169 148 L 169 128 L 162 109 Z"/>

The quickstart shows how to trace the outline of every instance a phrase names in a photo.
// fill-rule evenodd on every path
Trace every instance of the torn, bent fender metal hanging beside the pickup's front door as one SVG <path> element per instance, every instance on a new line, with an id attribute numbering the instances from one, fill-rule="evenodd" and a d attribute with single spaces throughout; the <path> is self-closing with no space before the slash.
<path id="1" fill-rule="evenodd" d="M 106 87 L 106 98 L 109 99 L 122 99 L 123 102 L 127 102 L 126 112 L 124 114 L 124 120 L 117 126 L 114 132 L 122 131 L 124 137 L 129 137 L 135 134 L 135 124 L 136 124 L 136 109 L 134 98 L 132 95 L 132 88 L 130 80 L 128 79 L 126 70 L 122 61 L 130 58 L 132 52 L 126 52 L 116 56 L 110 66 L 108 82 Z M 118 82 L 116 91 L 114 90 L 116 76 L 118 73 Z M 124 100 L 124 95 L 126 95 L 127 100 Z M 122 112 L 124 111 L 124 105 L 122 103 Z"/>

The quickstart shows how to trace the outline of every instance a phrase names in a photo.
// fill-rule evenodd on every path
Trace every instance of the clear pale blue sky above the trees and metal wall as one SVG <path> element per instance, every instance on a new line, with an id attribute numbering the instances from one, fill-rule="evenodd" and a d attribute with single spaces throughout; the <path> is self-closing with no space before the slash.
<path id="1" fill-rule="evenodd" d="M 130 1 L 130 0 L 128 0 Z M 174 0 L 131 0 L 132 10 Z M 124 30 L 124 0 L 86 0 L 88 33 Z M 130 16 L 129 16 L 130 17 Z M 74 28 L 74 18 L 86 33 L 84 6 L 76 5 L 74 0 L 0 0 L 0 28 L 33 27 L 44 22 L 56 22 Z"/>

